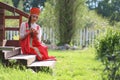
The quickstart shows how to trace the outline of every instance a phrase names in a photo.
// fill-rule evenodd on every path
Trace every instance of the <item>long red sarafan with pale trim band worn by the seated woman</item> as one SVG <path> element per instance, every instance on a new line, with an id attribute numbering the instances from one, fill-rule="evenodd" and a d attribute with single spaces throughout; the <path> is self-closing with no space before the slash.
<path id="1" fill-rule="evenodd" d="M 39 26 L 37 26 L 37 30 L 39 29 Z M 25 31 L 30 32 L 28 23 L 26 23 Z M 20 46 L 23 54 L 36 55 L 37 60 L 56 60 L 54 56 L 48 56 L 47 46 L 43 45 L 34 33 L 33 36 L 28 34 L 24 39 L 20 40 Z"/>

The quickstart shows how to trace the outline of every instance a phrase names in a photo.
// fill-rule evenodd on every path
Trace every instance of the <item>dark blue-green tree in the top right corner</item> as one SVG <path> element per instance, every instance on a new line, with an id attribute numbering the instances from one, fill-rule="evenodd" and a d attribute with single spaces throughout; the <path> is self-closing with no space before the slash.
<path id="1" fill-rule="evenodd" d="M 97 13 L 110 20 L 110 24 L 120 21 L 120 0 L 103 0 L 99 3 Z"/>

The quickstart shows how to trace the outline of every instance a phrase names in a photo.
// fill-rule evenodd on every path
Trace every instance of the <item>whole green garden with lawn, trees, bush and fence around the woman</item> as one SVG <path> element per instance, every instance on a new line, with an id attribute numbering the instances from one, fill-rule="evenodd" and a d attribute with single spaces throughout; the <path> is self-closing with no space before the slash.
<path id="1" fill-rule="evenodd" d="M 43 67 L 37 72 L 14 61 L 11 61 L 14 65 L 6 66 L 0 60 L 0 80 L 120 80 L 119 0 L 0 2 L 25 14 L 29 14 L 31 7 L 38 7 L 41 13 L 37 24 L 42 30 L 42 42 L 48 46 L 49 55 L 57 59 L 54 68 Z M 9 11 L 5 14 L 9 18 L 19 16 Z M 19 28 L 17 23 L 19 20 L 13 19 L 3 22 L 8 29 Z M 18 41 L 19 29 L 12 30 L 4 32 L 5 39 Z"/>

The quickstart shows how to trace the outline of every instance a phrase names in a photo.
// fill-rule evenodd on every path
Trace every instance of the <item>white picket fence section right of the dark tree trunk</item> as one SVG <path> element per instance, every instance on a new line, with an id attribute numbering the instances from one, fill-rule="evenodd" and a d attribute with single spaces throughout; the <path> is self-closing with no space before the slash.
<path id="1" fill-rule="evenodd" d="M 96 36 L 98 36 L 100 30 L 94 30 L 90 28 L 79 29 L 77 31 L 77 37 L 73 39 L 74 45 L 81 47 L 93 46 Z"/>

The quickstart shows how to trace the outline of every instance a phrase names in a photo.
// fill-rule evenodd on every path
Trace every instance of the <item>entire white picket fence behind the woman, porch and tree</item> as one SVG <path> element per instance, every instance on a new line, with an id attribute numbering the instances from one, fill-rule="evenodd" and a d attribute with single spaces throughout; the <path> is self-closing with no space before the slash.
<path id="1" fill-rule="evenodd" d="M 52 28 L 42 28 L 43 39 L 49 40 L 51 43 L 56 44 L 58 42 L 56 33 Z M 78 29 L 77 35 L 72 40 L 71 44 L 75 46 L 87 47 L 93 45 L 95 37 L 100 33 L 100 30 L 94 30 L 90 28 Z M 6 31 L 5 36 L 7 40 L 14 40 L 15 36 L 18 36 L 18 31 Z"/>

